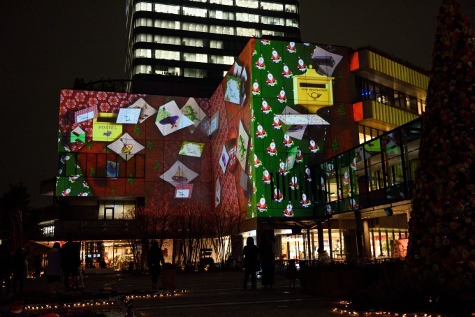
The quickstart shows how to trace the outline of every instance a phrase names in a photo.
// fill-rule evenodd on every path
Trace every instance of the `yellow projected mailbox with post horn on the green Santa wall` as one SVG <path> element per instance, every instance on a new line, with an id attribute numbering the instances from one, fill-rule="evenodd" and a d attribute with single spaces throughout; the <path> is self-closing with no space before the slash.
<path id="1" fill-rule="evenodd" d="M 301 105 L 315 113 L 317 110 L 333 105 L 333 77 L 316 73 L 309 68 L 305 74 L 293 77 L 293 98 L 295 105 Z"/>

